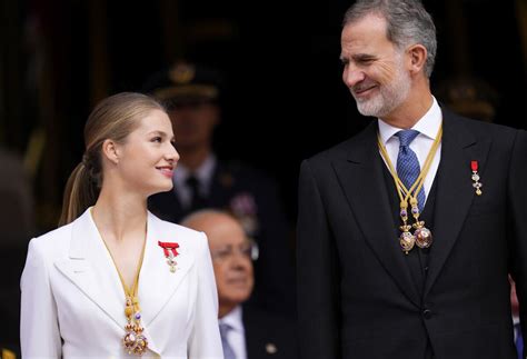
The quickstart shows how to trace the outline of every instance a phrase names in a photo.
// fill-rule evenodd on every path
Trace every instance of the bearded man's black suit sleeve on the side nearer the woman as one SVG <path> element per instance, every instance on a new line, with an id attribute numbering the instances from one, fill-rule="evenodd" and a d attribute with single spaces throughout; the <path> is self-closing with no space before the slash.
<path id="1" fill-rule="evenodd" d="M 300 358 L 337 359 L 340 358 L 338 257 L 324 198 L 307 160 L 300 168 L 297 226 Z"/>

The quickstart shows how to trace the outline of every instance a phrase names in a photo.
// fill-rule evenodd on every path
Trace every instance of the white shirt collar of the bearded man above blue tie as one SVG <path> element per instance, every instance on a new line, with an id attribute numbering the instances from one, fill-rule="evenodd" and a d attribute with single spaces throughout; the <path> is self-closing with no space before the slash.
<path id="1" fill-rule="evenodd" d="M 435 140 L 437 132 L 439 131 L 439 127 L 441 126 L 441 108 L 437 103 L 436 98 L 432 97 L 431 107 L 428 109 L 425 116 L 422 116 L 417 121 L 417 123 L 414 124 L 411 129 L 419 131 L 420 134 L 424 134 L 431 140 Z M 386 142 L 388 142 L 394 137 L 394 134 L 400 131 L 400 128 L 390 126 L 381 119 L 378 119 L 378 123 L 380 139 L 382 140 L 384 144 L 386 144 Z"/>

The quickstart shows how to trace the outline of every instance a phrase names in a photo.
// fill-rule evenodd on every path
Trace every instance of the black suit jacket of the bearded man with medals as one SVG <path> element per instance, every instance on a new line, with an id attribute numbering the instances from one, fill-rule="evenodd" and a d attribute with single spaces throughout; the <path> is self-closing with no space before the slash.
<path id="1" fill-rule="evenodd" d="M 304 161 L 300 358 L 516 358 L 507 273 L 527 308 L 527 133 L 443 114 L 435 242 L 422 291 L 399 247 L 377 122 Z M 481 196 L 471 160 L 479 163 Z M 520 318 L 527 322 L 525 310 Z"/>

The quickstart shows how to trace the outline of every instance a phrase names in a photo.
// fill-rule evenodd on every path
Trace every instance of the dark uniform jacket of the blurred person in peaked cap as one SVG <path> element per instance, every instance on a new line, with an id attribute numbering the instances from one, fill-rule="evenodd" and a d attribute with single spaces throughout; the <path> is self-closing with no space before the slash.
<path id="1" fill-rule="evenodd" d="M 247 166 L 218 161 L 206 207 L 232 211 L 232 200 L 247 196 L 256 208 L 246 207 L 247 211 L 238 215 L 245 217 L 242 220 L 257 225 L 248 235 L 259 246 L 251 302 L 267 310 L 291 313 L 295 311 L 294 256 L 277 185 Z M 151 196 L 149 209 L 159 218 L 175 223 L 188 215 L 175 191 Z"/>

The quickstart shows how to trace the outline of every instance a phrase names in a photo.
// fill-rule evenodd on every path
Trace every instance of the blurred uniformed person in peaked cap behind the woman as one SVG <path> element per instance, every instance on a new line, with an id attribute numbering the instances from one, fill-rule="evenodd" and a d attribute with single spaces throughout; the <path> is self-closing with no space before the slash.
<path id="1" fill-rule="evenodd" d="M 212 146 L 221 120 L 223 87 L 223 77 L 217 69 L 183 61 L 146 80 L 143 91 L 168 108 L 180 153 L 173 190 L 152 196 L 149 208 L 175 223 L 201 208 L 231 212 L 259 248 L 251 301 L 267 310 L 291 315 L 292 250 L 278 186 L 260 170 L 221 160 Z"/>

